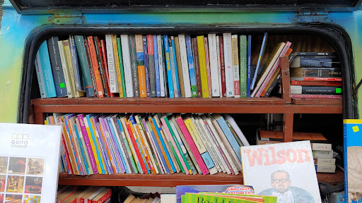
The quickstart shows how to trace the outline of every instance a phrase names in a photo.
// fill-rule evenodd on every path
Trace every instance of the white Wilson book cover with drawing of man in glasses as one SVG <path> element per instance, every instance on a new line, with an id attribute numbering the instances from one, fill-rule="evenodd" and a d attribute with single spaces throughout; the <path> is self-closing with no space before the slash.
<path id="1" fill-rule="evenodd" d="M 245 185 L 278 202 L 321 202 L 310 141 L 240 147 Z M 308 178 L 305 178 L 308 177 Z"/>

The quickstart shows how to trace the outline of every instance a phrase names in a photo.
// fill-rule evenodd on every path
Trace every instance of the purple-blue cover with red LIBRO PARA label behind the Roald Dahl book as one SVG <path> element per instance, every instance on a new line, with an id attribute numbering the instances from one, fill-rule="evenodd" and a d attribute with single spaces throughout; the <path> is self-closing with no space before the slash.
<path id="1" fill-rule="evenodd" d="M 228 194 L 254 194 L 254 189 L 249 185 L 177 185 L 176 202 L 181 203 L 181 196 L 186 192 L 225 192 Z"/>

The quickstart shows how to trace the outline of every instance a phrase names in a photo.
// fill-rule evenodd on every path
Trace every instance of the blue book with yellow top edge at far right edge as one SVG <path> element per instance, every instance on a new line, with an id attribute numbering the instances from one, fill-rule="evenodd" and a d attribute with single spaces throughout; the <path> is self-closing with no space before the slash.
<path id="1" fill-rule="evenodd" d="M 344 125 L 344 192 L 347 203 L 362 201 L 362 120 L 345 119 Z"/>

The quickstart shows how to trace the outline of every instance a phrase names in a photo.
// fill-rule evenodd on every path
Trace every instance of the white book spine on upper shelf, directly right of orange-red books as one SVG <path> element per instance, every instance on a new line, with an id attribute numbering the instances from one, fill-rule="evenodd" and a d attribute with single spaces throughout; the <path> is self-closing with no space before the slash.
<path id="1" fill-rule="evenodd" d="M 105 35 L 105 49 L 107 49 L 108 77 L 110 78 L 110 92 L 118 93 L 118 80 L 115 70 L 115 56 L 113 50 L 112 35 Z"/>

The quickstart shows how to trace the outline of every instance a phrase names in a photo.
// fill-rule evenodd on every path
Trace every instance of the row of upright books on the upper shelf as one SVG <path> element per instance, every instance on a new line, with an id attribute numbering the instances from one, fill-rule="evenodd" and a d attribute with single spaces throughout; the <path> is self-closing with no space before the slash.
<path id="1" fill-rule="evenodd" d="M 231 33 L 51 37 L 35 59 L 40 96 L 267 97 L 291 42 L 277 44 L 263 69 L 265 33 L 252 75 L 251 39 Z"/>

